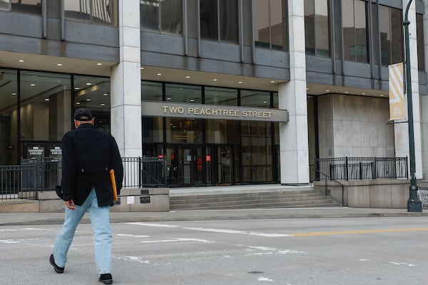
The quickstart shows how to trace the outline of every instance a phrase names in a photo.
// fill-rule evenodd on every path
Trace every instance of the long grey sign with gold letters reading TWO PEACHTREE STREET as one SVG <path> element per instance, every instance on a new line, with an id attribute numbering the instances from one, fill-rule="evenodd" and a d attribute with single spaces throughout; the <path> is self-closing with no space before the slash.
<path id="1" fill-rule="evenodd" d="M 262 120 L 269 122 L 288 121 L 287 110 L 168 102 L 143 102 L 141 104 L 141 114 L 176 118 Z"/>

